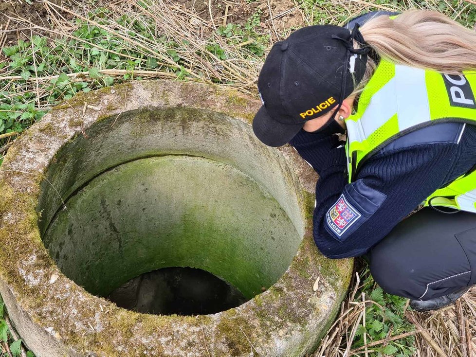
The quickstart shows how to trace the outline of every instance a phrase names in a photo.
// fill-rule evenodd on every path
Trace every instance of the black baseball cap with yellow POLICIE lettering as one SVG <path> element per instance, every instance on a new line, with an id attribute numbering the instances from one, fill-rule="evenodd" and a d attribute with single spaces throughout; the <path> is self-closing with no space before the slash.
<path id="1" fill-rule="evenodd" d="M 356 35 L 357 34 L 357 35 Z M 366 70 L 366 45 L 358 26 L 314 25 L 276 42 L 258 77 L 263 106 L 253 120 L 256 137 L 269 146 L 288 143 L 308 120 L 315 119 L 354 90 Z"/>

